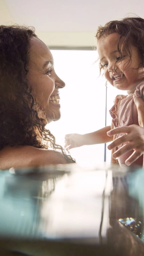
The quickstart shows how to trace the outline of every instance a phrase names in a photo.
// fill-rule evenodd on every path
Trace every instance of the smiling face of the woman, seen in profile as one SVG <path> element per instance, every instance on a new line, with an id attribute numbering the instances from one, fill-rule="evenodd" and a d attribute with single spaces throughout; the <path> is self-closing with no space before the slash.
<path id="1" fill-rule="evenodd" d="M 56 75 L 53 58 L 49 48 L 38 38 L 30 41 L 27 79 L 32 87 L 32 94 L 48 123 L 60 119 L 59 89 L 65 83 Z"/>

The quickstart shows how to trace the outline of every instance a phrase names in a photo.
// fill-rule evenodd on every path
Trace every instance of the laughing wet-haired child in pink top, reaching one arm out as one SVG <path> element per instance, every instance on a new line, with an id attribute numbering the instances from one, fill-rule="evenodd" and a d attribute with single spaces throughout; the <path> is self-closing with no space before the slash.
<path id="1" fill-rule="evenodd" d="M 112 163 L 143 165 L 144 154 L 144 19 L 124 18 L 99 26 L 100 71 L 126 95 L 117 95 L 110 109 L 111 126 L 87 134 L 67 134 L 68 149 L 113 142 Z M 114 160 L 115 159 L 115 160 Z"/>

